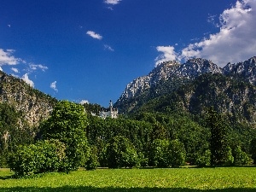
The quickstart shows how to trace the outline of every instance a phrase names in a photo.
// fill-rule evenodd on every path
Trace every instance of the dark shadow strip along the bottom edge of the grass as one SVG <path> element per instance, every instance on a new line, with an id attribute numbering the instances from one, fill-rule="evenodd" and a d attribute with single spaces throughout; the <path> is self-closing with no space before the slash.
<path id="1" fill-rule="evenodd" d="M 186 189 L 186 188 L 174 188 L 174 189 L 163 189 L 163 188 L 95 188 L 95 187 L 71 187 L 71 186 L 63 186 L 59 188 L 33 188 L 33 187 L 15 187 L 15 188 L 0 188 L 0 191 L 2 192 L 13 192 L 13 191 L 30 191 L 30 192 L 79 192 L 79 191 L 90 191 L 90 192 L 119 192 L 119 191 L 126 191 L 126 192 L 255 192 L 256 189 L 246 189 L 246 188 L 229 188 L 229 189 L 208 189 L 208 190 L 201 190 L 201 189 Z"/>

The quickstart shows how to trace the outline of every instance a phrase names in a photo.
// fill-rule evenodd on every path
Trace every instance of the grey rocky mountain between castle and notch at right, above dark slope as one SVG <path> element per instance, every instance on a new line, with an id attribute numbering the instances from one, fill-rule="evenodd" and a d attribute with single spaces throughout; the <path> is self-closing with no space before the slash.
<path id="1" fill-rule="evenodd" d="M 184 64 L 177 61 L 160 63 L 147 76 L 127 84 L 114 107 L 119 108 L 121 112 L 129 113 L 144 102 L 162 96 L 204 73 L 223 73 L 223 69 L 212 61 L 199 58 L 191 59 Z"/>

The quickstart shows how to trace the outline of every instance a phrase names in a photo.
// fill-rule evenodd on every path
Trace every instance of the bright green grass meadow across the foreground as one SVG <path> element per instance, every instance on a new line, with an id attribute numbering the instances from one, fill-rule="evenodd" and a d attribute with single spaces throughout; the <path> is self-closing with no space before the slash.
<path id="1" fill-rule="evenodd" d="M 48 173 L 14 179 L 0 169 L 0 191 L 212 191 L 255 192 L 256 167 L 98 169 L 96 171 Z"/>

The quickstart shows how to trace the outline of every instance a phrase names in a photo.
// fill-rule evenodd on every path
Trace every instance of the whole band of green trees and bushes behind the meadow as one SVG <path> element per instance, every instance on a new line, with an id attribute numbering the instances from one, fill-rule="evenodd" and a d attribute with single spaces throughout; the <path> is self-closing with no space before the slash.
<path id="1" fill-rule="evenodd" d="M 239 132 L 241 139 L 247 137 L 249 146 L 241 140 L 234 142 L 232 137 L 238 131 L 230 131 L 213 108 L 201 122 L 179 113 L 100 119 L 86 114 L 80 104 L 61 101 L 38 130 L 36 141 L 9 150 L 8 165 L 16 177 L 70 172 L 80 166 L 90 170 L 98 166 L 240 166 L 256 162 L 255 132 Z"/>

